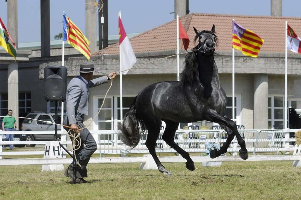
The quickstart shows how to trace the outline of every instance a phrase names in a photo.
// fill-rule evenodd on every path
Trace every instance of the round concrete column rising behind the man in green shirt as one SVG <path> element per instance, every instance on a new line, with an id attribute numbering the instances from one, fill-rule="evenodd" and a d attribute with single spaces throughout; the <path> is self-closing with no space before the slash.
<path id="1" fill-rule="evenodd" d="M 8 65 L 8 110 L 13 111 L 13 116 L 19 116 L 19 76 L 18 63 L 13 62 Z M 19 127 L 19 120 L 16 118 L 17 127 Z"/>

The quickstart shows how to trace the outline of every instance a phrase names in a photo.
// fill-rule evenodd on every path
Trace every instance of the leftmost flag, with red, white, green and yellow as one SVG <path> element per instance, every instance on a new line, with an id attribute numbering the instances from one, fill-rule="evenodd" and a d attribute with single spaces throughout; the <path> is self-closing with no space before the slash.
<path id="1" fill-rule="evenodd" d="M 0 17 L 0 46 L 2 46 L 3 48 L 5 48 L 5 50 L 12 55 L 15 60 L 16 60 L 16 45 L 13 41 L 13 39 L 11 39 L 11 36 L 9 35 L 4 23 L 2 22 L 2 19 Z"/>

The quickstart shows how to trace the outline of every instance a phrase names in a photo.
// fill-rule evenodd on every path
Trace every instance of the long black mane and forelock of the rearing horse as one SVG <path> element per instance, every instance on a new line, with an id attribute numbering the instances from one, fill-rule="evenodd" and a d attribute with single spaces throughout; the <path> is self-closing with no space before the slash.
<path id="1" fill-rule="evenodd" d="M 211 31 L 209 30 L 203 30 L 200 31 L 195 37 L 194 37 L 194 41 L 193 44 L 195 45 L 195 42 L 197 41 L 197 39 L 200 37 L 200 35 L 202 35 L 203 33 L 210 33 L 213 34 Z M 214 38 L 214 42 L 218 43 L 218 39 L 217 36 L 215 34 L 213 34 L 215 36 Z M 185 87 L 188 86 L 192 86 L 193 83 L 195 83 L 196 81 L 200 81 L 199 80 L 199 73 L 198 73 L 198 65 L 197 65 L 197 49 L 198 46 L 195 46 L 194 48 L 191 49 L 191 51 L 186 54 L 185 56 L 185 61 L 184 61 L 184 68 L 183 71 L 180 75 L 180 87 L 181 89 L 184 89 Z"/>

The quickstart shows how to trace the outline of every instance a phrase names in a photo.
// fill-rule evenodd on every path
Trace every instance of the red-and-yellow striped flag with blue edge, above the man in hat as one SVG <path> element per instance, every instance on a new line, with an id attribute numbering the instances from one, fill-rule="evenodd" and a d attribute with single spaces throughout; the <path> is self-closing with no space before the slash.
<path id="1" fill-rule="evenodd" d="M 81 52 L 88 60 L 91 58 L 90 41 L 79 28 L 63 13 L 63 40 Z"/>

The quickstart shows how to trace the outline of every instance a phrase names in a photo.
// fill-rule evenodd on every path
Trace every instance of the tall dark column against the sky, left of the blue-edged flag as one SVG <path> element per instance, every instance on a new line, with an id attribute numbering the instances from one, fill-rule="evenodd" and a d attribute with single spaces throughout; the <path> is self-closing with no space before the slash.
<path id="1" fill-rule="evenodd" d="M 50 2 L 41 0 L 41 57 L 50 56 Z"/>

